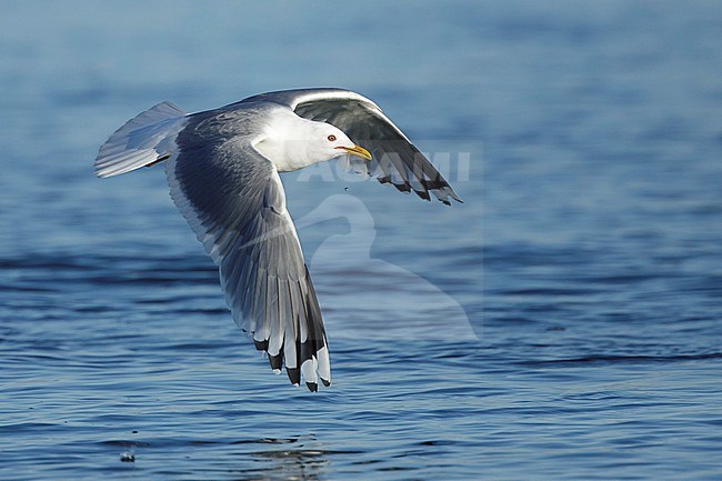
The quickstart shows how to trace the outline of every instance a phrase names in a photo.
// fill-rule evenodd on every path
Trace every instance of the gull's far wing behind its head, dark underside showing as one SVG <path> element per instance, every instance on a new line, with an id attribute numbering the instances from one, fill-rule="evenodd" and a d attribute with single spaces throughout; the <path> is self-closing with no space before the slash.
<path id="1" fill-rule="evenodd" d="M 413 190 L 425 200 L 430 200 L 431 192 L 445 204 L 451 203 L 449 198 L 461 202 L 429 159 L 379 106 L 359 93 L 342 89 L 304 89 L 262 93 L 243 100 L 253 101 L 284 104 L 300 117 L 341 129 L 373 156 L 371 162 L 348 158 L 351 168 L 359 173 L 377 177 L 381 183 L 391 183 L 400 191 Z"/>

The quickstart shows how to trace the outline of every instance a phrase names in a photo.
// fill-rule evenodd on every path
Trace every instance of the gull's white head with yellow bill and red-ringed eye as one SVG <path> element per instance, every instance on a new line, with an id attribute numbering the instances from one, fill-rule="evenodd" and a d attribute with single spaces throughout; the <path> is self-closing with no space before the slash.
<path id="1" fill-rule="evenodd" d="M 371 160 L 371 153 L 354 144 L 341 130 L 325 122 L 298 117 L 273 116 L 267 137 L 255 144 L 280 172 L 302 169 L 339 156 Z"/>

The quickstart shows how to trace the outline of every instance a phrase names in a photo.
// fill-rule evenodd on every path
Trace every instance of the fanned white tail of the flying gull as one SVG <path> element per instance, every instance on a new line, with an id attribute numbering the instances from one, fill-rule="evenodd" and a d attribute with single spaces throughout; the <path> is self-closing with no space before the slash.
<path id="1" fill-rule="evenodd" d="M 100 148 L 96 176 L 119 176 L 173 157 L 185 116 L 176 104 L 162 102 L 129 120 Z"/>

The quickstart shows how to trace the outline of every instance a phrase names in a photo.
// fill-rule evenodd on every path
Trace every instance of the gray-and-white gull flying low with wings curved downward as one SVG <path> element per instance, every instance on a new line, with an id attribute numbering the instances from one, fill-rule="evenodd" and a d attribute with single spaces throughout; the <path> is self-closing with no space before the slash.
<path id="1" fill-rule="evenodd" d="M 106 178 L 164 162 L 233 320 L 274 372 L 317 391 L 319 379 L 331 384 L 325 328 L 279 172 L 338 157 L 402 192 L 461 202 L 373 101 L 343 89 L 268 92 L 194 113 L 161 102 L 106 141 L 94 170 Z"/>

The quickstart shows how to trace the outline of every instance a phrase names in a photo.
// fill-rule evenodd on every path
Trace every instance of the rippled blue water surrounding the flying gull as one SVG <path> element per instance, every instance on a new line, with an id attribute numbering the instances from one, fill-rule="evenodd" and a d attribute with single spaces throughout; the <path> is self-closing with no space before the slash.
<path id="1" fill-rule="evenodd" d="M 590 3 L 3 2 L 0 479 L 722 479 L 722 4 Z M 161 169 L 92 176 L 161 100 L 313 86 L 464 200 L 287 176 L 319 393 L 234 327 Z"/>

